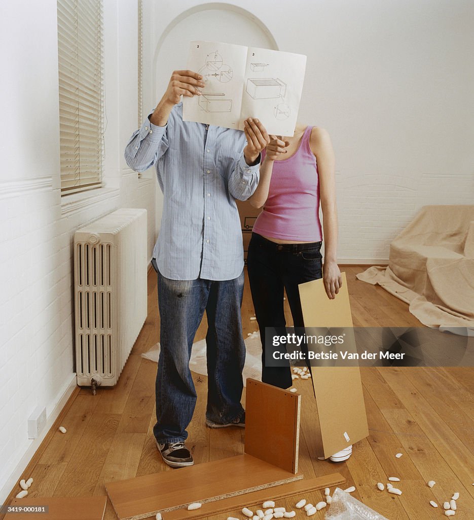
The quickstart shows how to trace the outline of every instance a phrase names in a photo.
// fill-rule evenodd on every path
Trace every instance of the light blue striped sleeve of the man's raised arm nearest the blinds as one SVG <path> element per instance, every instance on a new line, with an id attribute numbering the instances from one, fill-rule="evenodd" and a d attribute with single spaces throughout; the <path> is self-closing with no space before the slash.
<path id="1" fill-rule="evenodd" d="M 156 126 L 145 119 L 142 126 L 130 137 L 125 147 L 125 160 L 136 172 L 143 172 L 168 149 L 167 127 Z"/>

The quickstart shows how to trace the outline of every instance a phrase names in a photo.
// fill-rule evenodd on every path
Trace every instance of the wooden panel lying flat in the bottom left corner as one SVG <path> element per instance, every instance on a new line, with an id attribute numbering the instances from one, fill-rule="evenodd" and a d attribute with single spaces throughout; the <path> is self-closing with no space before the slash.
<path id="1" fill-rule="evenodd" d="M 22 498 L 13 499 L 12 506 L 47 505 L 48 513 L 8 513 L 5 520 L 102 520 L 107 497 Z"/>

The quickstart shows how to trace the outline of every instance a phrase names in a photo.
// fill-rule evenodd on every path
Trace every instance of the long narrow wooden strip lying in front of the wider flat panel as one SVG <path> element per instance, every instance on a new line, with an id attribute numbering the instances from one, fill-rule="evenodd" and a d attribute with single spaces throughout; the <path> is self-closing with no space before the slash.
<path id="1" fill-rule="evenodd" d="M 177 509 L 168 513 L 163 513 L 164 520 L 197 520 L 205 516 L 231 511 L 233 509 L 241 509 L 243 506 L 252 506 L 259 504 L 265 500 L 278 500 L 286 497 L 297 495 L 298 493 L 306 493 L 309 491 L 316 491 L 326 487 L 340 486 L 345 482 L 344 477 L 339 473 L 332 473 L 317 478 L 303 478 L 295 480 L 288 484 L 273 487 L 272 489 L 260 489 L 245 495 L 238 495 L 236 497 L 225 498 L 215 502 L 208 502 L 202 504 L 201 508 L 188 511 L 187 509 Z"/>

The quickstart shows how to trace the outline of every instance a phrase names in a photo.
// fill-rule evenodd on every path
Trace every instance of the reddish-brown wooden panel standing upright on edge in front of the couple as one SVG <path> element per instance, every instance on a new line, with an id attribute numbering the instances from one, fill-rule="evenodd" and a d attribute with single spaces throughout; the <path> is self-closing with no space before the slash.
<path id="1" fill-rule="evenodd" d="M 301 395 L 247 379 L 245 452 L 297 473 L 300 407 Z"/>

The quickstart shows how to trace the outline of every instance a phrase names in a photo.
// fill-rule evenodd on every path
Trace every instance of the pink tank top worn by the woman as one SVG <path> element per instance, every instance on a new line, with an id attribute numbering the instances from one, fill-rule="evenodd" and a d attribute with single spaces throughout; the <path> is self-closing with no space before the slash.
<path id="1" fill-rule="evenodd" d="M 318 166 L 309 148 L 312 129 L 306 127 L 299 147 L 289 159 L 273 163 L 268 198 L 253 225 L 255 233 L 295 242 L 322 240 Z"/>

